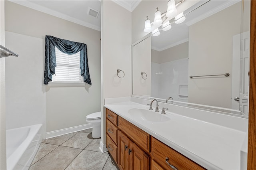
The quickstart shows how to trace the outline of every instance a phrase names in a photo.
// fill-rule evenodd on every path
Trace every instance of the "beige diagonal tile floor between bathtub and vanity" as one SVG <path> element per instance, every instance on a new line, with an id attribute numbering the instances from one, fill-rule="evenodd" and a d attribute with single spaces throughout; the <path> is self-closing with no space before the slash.
<path id="1" fill-rule="evenodd" d="M 30 170 L 117 170 L 108 153 L 101 153 L 100 139 L 92 129 L 43 140 Z"/>

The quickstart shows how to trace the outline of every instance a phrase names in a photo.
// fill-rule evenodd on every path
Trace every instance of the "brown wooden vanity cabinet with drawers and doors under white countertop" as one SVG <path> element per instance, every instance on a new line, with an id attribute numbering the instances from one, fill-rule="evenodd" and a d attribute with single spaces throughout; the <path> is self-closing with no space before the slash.
<path id="1" fill-rule="evenodd" d="M 106 118 L 106 145 L 121 170 L 204 169 L 108 109 Z"/>

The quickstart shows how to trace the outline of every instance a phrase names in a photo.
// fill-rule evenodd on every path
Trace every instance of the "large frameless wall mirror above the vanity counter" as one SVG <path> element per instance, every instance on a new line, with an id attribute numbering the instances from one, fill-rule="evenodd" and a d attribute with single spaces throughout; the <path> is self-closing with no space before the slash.
<path id="1" fill-rule="evenodd" d="M 248 117 L 250 1 L 200 1 L 184 15 L 132 45 L 132 95 Z"/>

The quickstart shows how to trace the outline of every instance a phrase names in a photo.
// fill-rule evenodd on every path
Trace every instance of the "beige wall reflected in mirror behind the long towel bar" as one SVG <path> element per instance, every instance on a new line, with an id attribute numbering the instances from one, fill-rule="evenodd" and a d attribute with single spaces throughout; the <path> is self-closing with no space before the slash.
<path id="1" fill-rule="evenodd" d="M 240 34 L 241 4 L 189 27 L 189 75 L 232 73 L 232 41 Z M 189 79 L 188 102 L 231 108 L 231 78 Z"/>

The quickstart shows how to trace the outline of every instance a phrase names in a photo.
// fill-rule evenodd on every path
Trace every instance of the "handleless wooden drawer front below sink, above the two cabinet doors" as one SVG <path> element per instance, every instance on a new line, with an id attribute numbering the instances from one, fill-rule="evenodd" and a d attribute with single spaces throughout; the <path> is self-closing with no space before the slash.
<path id="1" fill-rule="evenodd" d="M 118 128 L 120 128 L 129 138 L 131 138 L 140 148 L 149 153 L 149 134 L 136 127 L 124 118 L 118 118 Z"/>

